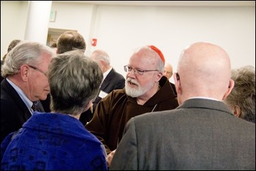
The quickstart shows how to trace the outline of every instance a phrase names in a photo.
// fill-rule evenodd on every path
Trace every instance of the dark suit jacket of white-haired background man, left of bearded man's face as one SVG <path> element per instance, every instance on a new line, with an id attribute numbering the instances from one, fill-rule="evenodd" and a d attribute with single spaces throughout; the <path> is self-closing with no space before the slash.
<path id="1" fill-rule="evenodd" d="M 103 80 L 103 83 L 100 86 L 100 90 L 109 94 L 113 90 L 122 89 L 125 86 L 125 81 L 123 75 L 120 73 L 117 73 L 115 69 L 111 69 L 107 77 Z M 96 100 L 93 102 L 93 111 L 96 109 L 96 105 L 101 100 L 101 98 L 98 96 Z M 80 121 L 84 123 L 84 125 L 92 119 L 93 113 L 90 111 L 90 109 L 80 116 Z"/>

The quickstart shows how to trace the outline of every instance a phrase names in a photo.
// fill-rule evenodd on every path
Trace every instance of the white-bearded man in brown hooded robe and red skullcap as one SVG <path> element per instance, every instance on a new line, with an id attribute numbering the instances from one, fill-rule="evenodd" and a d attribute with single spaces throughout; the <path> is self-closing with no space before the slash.
<path id="1" fill-rule="evenodd" d="M 86 124 L 86 129 L 105 145 L 108 166 L 131 117 L 178 107 L 169 81 L 162 77 L 164 62 L 164 55 L 155 46 L 138 48 L 124 66 L 124 89 L 113 90 L 102 98 L 92 120 Z"/>

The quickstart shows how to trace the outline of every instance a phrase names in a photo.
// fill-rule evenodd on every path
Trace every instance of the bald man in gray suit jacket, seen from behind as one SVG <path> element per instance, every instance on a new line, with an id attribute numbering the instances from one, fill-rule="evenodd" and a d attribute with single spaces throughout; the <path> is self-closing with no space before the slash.
<path id="1" fill-rule="evenodd" d="M 179 107 L 132 117 L 109 170 L 255 170 L 255 123 L 223 103 L 230 76 L 225 50 L 190 45 L 174 74 Z"/>

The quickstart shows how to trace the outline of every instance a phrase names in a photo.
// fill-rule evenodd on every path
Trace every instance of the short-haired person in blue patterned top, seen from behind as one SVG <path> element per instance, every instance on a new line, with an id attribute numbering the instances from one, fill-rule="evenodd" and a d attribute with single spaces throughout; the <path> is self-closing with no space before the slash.
<path id="1" fill-rule="evenodd" d="M 51 113 L 34 112 L 3 140 L 1 170 L 107 170 L 103 144 L 78 120 L 98 94 L 98 64 L 81 51 L 65 52 L 52 59 L 48 78 Z"/>

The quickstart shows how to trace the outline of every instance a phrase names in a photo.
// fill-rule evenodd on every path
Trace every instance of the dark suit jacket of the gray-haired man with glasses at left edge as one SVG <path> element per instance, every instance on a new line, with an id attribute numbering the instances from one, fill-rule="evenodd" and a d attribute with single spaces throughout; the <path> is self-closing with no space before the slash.
<path id="1" fill-rule="evenodd" d="M 43 112 L 41 102 L 38 102 L 37 107 Z M 1 142 L 5 136 L 20 129 L 30 117 L 31 112 L 26 104 L 10 83 L 3 79 L 1 82 Z"/>

